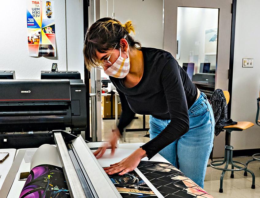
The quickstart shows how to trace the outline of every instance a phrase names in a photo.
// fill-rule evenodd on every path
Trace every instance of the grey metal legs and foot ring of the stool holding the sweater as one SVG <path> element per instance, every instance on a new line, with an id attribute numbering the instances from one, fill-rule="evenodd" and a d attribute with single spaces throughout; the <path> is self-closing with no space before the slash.
<path id="1" fill-rule="evenodd" d="M 221 176 L 220 176 L 220 189 L 219 189 L 219 192 L 223 192 L 223 179 L 224 179 L 224 174 L 226 173 L 226 171 L 231 171 L 231 178 L 234 178 L 234 171 L 242 171 L 242 170 L 245 170 L 249 173 L 251 173 L 252 175 L 252 186 L 251 188 L 255 188 L 255 184 L 254 184 L 254 181 L 255 181 L 255 177 L 254 177 L 254 173 L 250 170 L 247 169 L 247 165 L 241 163 L 241 162 L 238 162 L 238 161 L 233 161 L 233 149 L 234 147 L 230 145 L 230 133 L 231 131 L 226 131 L 227 133 L 227 137 L 228 137 L 228 145 L 225 146 L 225 155 L 224 155 L 224 160 L 217 160 L 217 161 L 212 161 L 210 162 L 210 166 L 214 169 L 218 169 L 218 170 L 222 170 L 222 173 L 221 173 Z M 220 163 L 216 163 L 216 162 L 220 162 Z M 220 165 L 224 165 L 225 164 L 225 167 L 224 168 L 220 168 L 220 167 L 217 167 L 217 166 L 220 166 Z M 239 166 L 239 165 L 242 165 L 242 166 Z M 231 165 L 231 169 L 228 169 L 228 165 Z M 237 169 L 234 169 L 237 168 Z"/>

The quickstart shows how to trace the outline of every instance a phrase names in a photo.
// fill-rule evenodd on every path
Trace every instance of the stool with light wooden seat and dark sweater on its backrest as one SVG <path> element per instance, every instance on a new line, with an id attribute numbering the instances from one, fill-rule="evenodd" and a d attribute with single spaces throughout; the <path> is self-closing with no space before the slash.
<path id="1" fill-rule="evenodd" d="M 228 104 L 229 98 L 230 98 L 229 92 L 228 91 L 223 91 L 223 92 L 224 92 L 224 95 L 225 95 L 225 98 L 226 98 L 226 101 L 227 101 L 227 104 Z M 226 171 L 231 171 L 231 176 L 230 176 L 231 178 L 234 178 L 234 171 L 243 171 L 244 170 L 246 172 L 251 173 L 251 175 L 252 175 L 252 186 L 251 186 L 251 188 L 253 188 L 253 189 L 255 188 L 254 173 L 247 169 L 246 164 L 243 164 L 243 163 L 238 162 L 238 161 L 233 161 L 233 149 L 234 149 L 234 147 L 230 145 L 230 138 L 231 138 L 231 132 L 232 131 L 243 131 L 243 130 L 250 128 L 251 126 L 254 126 L 254 123 L 252 123 L 252 122 L 238 122 L 235 125 L 224 126 L 224 129 L 226 130 L 226 142 L 227 142 L 227 145 L 225 146 L 224 160 L 217 160 L 217 161 L 210 162 L 210 166 L 212 168 L 222 170 L 222 173 L 221 173 L 221 176 L 220 176 L 220 189 L 219 189 L 219 192 L 221 192 L 221 193 L 223 192 L 223 178 L 224 178 L 224 174 L 225 174 Z M 224 168 L 217 167 L 217 166 L 224 165 L 224 164 L 225 164 Z M 231 164 L 231 169 L 228 169 L 229 164 Z M 242 165 L 242 166 L 239 166 L 237 164 Z M 234 169 L 234 167 L 237 168 L 237 169 Z"/>

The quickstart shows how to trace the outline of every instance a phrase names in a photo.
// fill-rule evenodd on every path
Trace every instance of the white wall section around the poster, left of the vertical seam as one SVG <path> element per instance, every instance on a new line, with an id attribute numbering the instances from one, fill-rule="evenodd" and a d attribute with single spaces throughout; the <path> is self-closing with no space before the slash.
<path id="1" fill-rule="evenodd" d="M 65 1 L 55 1 L 57 60 L 53 57 L 30 57 L 27 44 L 26 1 L 2 1 L 0 12 L 0 70 L 15 70 L 17 79 L 40 79 L 41 70 L 50 70 L 58 63 L 67 70 Z"/>

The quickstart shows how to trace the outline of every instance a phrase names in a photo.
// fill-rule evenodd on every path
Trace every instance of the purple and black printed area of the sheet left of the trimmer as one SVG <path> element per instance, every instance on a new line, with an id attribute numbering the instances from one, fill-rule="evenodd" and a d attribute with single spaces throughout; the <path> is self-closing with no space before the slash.
<path id="1" fill-rule="evenodd" d="M 19 198 L 70 198 L 62 168 L 43 164 L 34 167 Z"/>

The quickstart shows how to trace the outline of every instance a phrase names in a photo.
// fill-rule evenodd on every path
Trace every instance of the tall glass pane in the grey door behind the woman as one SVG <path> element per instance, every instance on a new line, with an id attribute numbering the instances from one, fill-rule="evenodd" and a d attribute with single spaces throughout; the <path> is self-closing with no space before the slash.
<path id="1" fill-rule="evenodd" d="M 219 9 L 178 7 L 176 59 L 210 99 L 215 90 Z"/>

